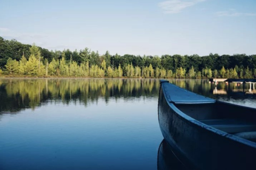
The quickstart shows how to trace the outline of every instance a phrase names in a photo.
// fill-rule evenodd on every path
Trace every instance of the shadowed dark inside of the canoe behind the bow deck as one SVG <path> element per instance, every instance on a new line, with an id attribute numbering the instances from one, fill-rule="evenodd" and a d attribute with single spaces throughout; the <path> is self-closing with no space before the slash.
<path id="1" fill-rule="evenodd" d="M 209 104 L 175 104 L 175 107 L 199 122 L 230 134 L 256 132 L 255 109 L 219 101 Z M 256 136 L 250 140 L 256 141 Z"/>

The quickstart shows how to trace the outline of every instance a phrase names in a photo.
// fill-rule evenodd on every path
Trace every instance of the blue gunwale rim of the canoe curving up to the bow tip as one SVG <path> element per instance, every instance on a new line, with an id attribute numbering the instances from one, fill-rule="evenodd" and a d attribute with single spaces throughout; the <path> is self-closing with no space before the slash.
<path id="1" fill-rule="evenodd" d="M 227 139 L 233 140 L 235 142 L 239 142 L 239 143 L 242 143 L 242 144 L 245 144 L 245 145 L 249 145 L 250 147 L 256 148 L 256 143 L 255 142 L 252 142 L 252 141 L 243 139 L 242 137 L 238 137 L 238 136 L 232 135 L 230 133 L 221 131 L 217 128 L 214 128 L 210 125 L 206 125 L 206 124 L 204 124 L 202 122 L 199 122 L 198 120 L 186 115 L 184 112 L 179 110 L 175 106 L 175 104 L 188 104 L 188 105 L 189 104 L 200 104 L 200 105 L 202 105 L 202 104 L 209 104 L 209 103 L 213 103 L 213 102 L 190 102 L 190 103 L 179 103 L 178 102 L 177 103 L 177 102 L 170 101 L 169 94 L 166 93 L 166 89 L 165 89 L 165 87 L 163 87 L 165 83 L 169 83 L 169 81 L 161 80 L 161 87 L 160 88 L 162 88 L 162 90 L 163 90 L 163 94 L 164 94 L 164 98 L 166 100 L 166 103 L 168 103 L 169 107 L 174 111 L 174 114 L 176 114 L 178 117 L 180 117 L 183 121 L 185 121 L 185 122 L 187 122 L 187 123 L 189 123 L 193 126 L 196 126 L 196 127 L 199 127 L 199 128 L 204 128 L 204 129 L 206 129 L 207 131 L 209 131 L 211 133 L 221 135 L 221 136 L 226 137 Z M 230 106 L 237 106 L 235 104 L 222 102 L 222 101 L 218 101 L 218 100 L 215 100 L 215 102 L 220 102 L 220 103 L 223 103 L 223 104 L 229 104 Z M 241 106 L 241 107 L 248 108 L 248 107 L 244 107 L 244 106 Z"/>

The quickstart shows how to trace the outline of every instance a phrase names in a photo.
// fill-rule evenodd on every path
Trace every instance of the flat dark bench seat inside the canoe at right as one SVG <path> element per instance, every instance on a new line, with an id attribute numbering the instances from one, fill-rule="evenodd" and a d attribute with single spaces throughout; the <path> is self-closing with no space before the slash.
<path id="1" fill-rule="evenodd" d="M 242 120 L 236 119 L 210 119 L 201 120 L 200 122 L 217 128 L 227 133 L 241 133 L 241 132 L 254 132 L 256 131 L 256 124 L 247 123 Z"/>

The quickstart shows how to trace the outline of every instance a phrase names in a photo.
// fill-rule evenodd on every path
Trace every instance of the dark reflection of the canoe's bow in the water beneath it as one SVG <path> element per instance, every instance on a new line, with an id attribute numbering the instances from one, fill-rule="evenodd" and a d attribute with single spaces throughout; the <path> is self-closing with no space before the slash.
<path id="1" fill-rule="evenodd" d="M 163 140 L 158 148 L 157 169 L 187 170 L 188 168 L 174 155 L 170 145 Z"/>

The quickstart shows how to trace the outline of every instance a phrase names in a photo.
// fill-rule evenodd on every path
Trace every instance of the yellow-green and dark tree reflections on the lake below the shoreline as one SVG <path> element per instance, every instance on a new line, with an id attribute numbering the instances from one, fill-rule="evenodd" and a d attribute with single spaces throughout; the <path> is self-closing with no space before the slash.
<path id="1" fill-rule="evenodd" d="M 215 85 L 207 79 L 169 79 L 170 83 L 210 98 L 237 98 L 241 86 L 219 83 L 216 88 L 227 94 L 214 94 Z M 246 85 L 249 86 L 249 84 Z M 132 100 L 134 98 L 158 98 L 159 79 L 118 78 L 1 78 L 0 111 L 19 112 L 21 109 L 41 106 L 48 102 L 79 102 L 87 106 L 91 102 L 110 98 Z M 244 92 L 246 94 L 246 92 Z M 248 96 L 239 96 L 239 98 Z M 255 99 L 255 95 L 250 98 Z M 228 99 L 229 100 L 229 99 Z"/>

